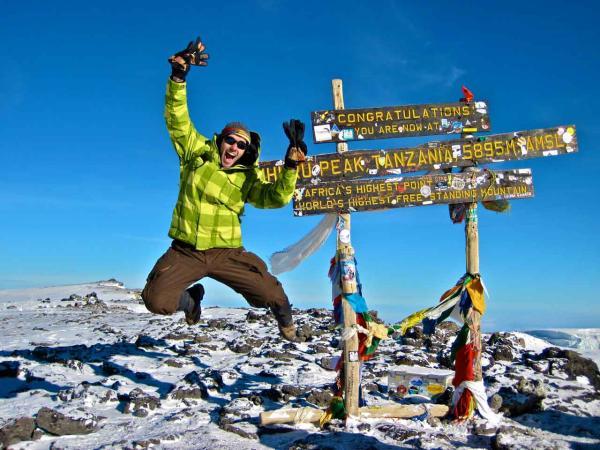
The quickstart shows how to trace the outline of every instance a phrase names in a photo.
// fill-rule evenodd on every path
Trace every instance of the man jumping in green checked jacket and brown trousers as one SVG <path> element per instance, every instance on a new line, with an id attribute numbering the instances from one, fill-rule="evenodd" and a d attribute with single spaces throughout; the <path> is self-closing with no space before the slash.
<path id="1" fill-rule="evenodd" d="M 304 124 L 284 123 L 290 141 L 285 166 L 276 181 L 264 181 L 258 168 L 260 136 L 230 122 L 209 139 L 196 131 L 187 108 L 186 76 L 192 65 L 206 66 L 200 38 L 169 58 L 165 119 L 179 156 L 179 197 L 173 211 L 171 247 L 160 257 L 142 291 L 146 308 L 156 314 L 183 311 L 188 324 L 200 320 L 201 284 L 210 277 L 231 287 L 254 307 L 270 308 L 281 335 L 297 340 L 290 302 L 266 264 L 242 246 L 244 205 L 280 208 L 292 198 L 298 162 L 305 160 Z"/>

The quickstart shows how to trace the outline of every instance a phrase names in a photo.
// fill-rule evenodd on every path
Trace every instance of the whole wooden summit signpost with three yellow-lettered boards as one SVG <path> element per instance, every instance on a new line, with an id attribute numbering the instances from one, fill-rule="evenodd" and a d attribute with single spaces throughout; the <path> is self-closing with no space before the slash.
<path id="1" fill-rule="evenodd" d="M 298 167 L 294 214 L 337 213 L 336 263 L 341 271 L 354 264 L 350 239 L 350 213 L 435 204 L 468 204 L 465 217 L 466 271 L 479 276 L 477 203 L 533 196 L 530 169 L 491 171 L 483 163 L 554 156 L 578 151 L 574 125 L 473 137 L 489 131 L 487 103 L 482 101 L 344 109 L 342 81 L 333 80 L 334 109 L 312 113 L 315 143 L 335 142 L 334 154 L 312 155 Z M 412 148 L 347 151 L 347 141 L 405 136 L 460 134 L 444 142 Z M 283 161 L 261 163 L 263 176 L 273 181 Z M 409 176 L 407 173 L 453 167 L 461 173 Z M 341 277 L 343 309 L 343 382 L 347 417 L 380 414 L 359 408 L 359 354 L 356 312 L 344 298 L 357 292 L 355 277 Z M 334 292 L 336 287 L 334 286 Z M 474 380 L 482 380 L 481 314 L 471 308 L 465 319 L 474 344 Z M 486 405 L 487 406 L 487 405 Z M 384 407 L 383 409 L 385 409 Z M 393 405 L 385 417 L 411 417 L 410 405 Z M 326 415 L 301 408 L 261 414 L 261 423 L 314 422 Z M 447 407 L 445 409 L 447 411 Z M 438 411 L 437 414 L 442 414 Z M 378 416 L 380 417 L 380 416 Z"/>

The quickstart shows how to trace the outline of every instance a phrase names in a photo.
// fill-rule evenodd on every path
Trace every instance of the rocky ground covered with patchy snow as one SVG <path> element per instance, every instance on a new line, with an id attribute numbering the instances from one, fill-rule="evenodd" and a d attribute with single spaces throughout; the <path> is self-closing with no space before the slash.
<path id="1" fill-rule="evenodd" d="M 597 367 L 554 347 L 597 351 L 598 330 L 485 335 L 487 394 L 504 414 L 497 428 L 422 417 L 320 429 L 260 427 L 258 416 L 328 405 L 336 374 L 324 361 L 339 354 L 329 311 L 297 312 L 303 343 L 282 341 L 263 310 L 202 317 L 189 327 L 181 315 L 152 315 L 115 280 L 0 291 L 0 441 L 21 419 L 28 438 L 11 448 L 600 448 Z M 394 367 L 448 368 L 456 326 L 443 325 L 382 342 L 363 365 L 369 405 L 391 401 Z"/>

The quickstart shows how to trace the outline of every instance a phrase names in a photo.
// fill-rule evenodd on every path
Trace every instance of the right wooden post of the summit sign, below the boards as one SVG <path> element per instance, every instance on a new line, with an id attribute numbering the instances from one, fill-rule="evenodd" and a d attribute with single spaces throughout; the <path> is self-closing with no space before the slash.
<path id="1" fill-rule="evenodd" d="M 476 275 L 479 273 L 479 230 L 477 226 L 477 203 L 471 203 L 465 218 L 465 240 L 467 272 Z M 468 318 L 471 340 L 475 350 L 473 365 L 475 381 L 481 381 L 481 313 L 471 308 Z"/>

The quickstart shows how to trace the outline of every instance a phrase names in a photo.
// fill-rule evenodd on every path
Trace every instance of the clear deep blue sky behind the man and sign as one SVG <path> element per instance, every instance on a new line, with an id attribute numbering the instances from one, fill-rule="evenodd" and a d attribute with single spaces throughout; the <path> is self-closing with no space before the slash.
<path id="1" fill-rule="evenodd" d="M 282 121 L 331 106 L 333 78 L 348 108 L 456 101 L 465 84 L 489 102 L 494 133 L 576 124 L 579 153 L 495 166 L 531 167 L 536 194 L 509 214 L 480 213 L 484 328 L 600 326 L 596 2 L 86 3 L 0 7 L 0 289 L 143 286 L 177 196 L 167 57 L 199 34 L 211 60 L 188 77 L 197 128 L 244 121 L 263 159 L 283 155 Z M 245 246 L 267 259 L 318 220 L 248 207 Z M 389 322 L 464 273 L 463 226 L 445 206 L 354 214 L 352 241 L 369 306 Z M 296 306 L 330 307 L 334 251 L 330 238 L 280 277 Z M 245 304 L 207 286 L 207 304 Z"/>

